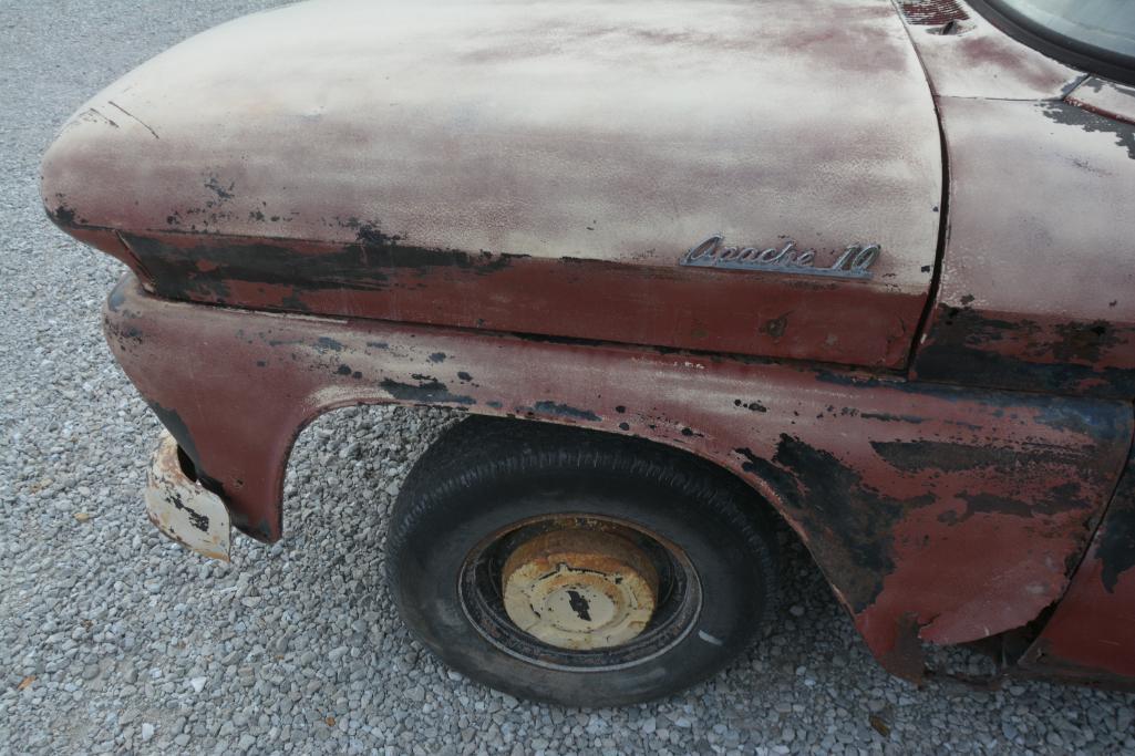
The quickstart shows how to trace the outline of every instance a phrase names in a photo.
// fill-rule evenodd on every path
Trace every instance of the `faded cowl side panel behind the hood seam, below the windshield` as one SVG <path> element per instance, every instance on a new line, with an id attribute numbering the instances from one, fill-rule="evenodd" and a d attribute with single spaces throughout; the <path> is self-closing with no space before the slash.
<path id="1" fill-rule="evenodd" d="M 915 373 L 1135 396 L 1135 126 L 1066 102 L 939 108 L 949 227 Z"/>

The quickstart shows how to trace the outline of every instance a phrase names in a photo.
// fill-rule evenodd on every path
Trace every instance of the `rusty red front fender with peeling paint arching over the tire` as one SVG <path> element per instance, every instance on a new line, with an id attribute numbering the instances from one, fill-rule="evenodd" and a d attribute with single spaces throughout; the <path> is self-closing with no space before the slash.
<path id="1" fill-rule="evenodd" d="M 280 537 L 292 443 L 335 406 L 437 404 L 641 436 L 753 485 L 872 650 L 913 678 L 919 639 L 992 636 L 1063 594 L 1133 432 L 1124 402 L 202 308 L 148 295 L 133 277 L 108 301 L 106 329 L 201 479 L 255 537 Z"/>

